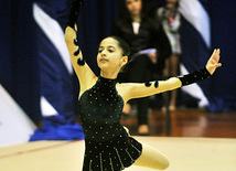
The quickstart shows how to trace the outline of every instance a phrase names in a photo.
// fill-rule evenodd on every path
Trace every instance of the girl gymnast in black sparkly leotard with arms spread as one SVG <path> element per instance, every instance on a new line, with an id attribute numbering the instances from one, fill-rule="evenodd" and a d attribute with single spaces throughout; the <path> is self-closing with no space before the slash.
<path id="1" fill-rule="evenodd" d="M 131 164 L 163 170 L 169 167 L 168 158 L 157 149 L 138 142 L 120 125 L 124 105 L 131 98 L 146 97 L 202 81 L 221 66 L 219 50 L 215 50 L 206 66 L 193 74 L 150 83 L 119 84 L 116 77 L 127 63 L 129 47 L 125 41 L 109 36 L 100 42 L 97 77 L 85 63 L 76 39 L 76 21 L 84 0 L 72 3 L 65 42 L 72 64 L 78 76 L 79 117 L 85 133 L 83 171 L 120 171 Z"/>

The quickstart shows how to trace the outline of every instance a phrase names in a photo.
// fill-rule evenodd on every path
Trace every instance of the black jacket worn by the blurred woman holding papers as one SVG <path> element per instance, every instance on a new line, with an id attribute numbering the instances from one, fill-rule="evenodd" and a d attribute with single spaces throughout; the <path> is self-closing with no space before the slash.
<path id="1" fill-rule="evenodd" d="M 111 34 L 122 38 L 129 44 L 130 56 L 151 47 L 158 50 L 161 61 L 171 55 L 169 40 L 161 24 L 154 19 L 143 18 L 138 34 L 133 33 L 131 20 L 118 19 L 112 24 Z"/>

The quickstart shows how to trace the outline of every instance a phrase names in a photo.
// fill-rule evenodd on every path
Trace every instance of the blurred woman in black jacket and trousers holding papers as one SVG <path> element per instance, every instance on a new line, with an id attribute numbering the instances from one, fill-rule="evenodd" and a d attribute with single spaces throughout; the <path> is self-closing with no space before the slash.
<path id="1" fill-rule="evenodd" d="M 158 21 L 144 14 L 141 0 L 120 1 L 120 18 L 115 21 L 111 33 L 130 46 L 129 64 L 118 76 L 121 82 L 143 83 L 162 74 L 164 61 L 171 54 L 170 43 Z M 129 101 L 124 113 L 129 113 L 133 103 L 138 110 L 138 133 L 148 135 L 149 99 Z"/>

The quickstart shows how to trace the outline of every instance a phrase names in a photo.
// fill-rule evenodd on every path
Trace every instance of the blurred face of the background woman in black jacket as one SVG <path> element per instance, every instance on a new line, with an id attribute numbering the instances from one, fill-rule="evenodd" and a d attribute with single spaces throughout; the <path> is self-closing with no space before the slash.
<path id="1" fill-rule="evenodd" d="M 141 0 L 126 0 L 126 7 L 131 15 L 141 13 L 142 1 Z"/>

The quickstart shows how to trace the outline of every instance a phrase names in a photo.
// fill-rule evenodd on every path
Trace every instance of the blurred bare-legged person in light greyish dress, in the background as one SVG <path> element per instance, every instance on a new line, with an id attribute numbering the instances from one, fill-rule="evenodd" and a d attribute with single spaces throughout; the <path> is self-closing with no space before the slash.
<path id="1" fill-rule="evenodd" d="M 164 75 L 167 77 L 179 75 L 179 61 L 181 55 L 179 0 L 167 0 L 164 7 L 157 10 L 157 19 L 162 23 L 165 34 L 171 43 L 172 54 L 167 60 Z M 170 110 L 175 109 L 176 89 L 172 90 L 170 99 Z"/>

